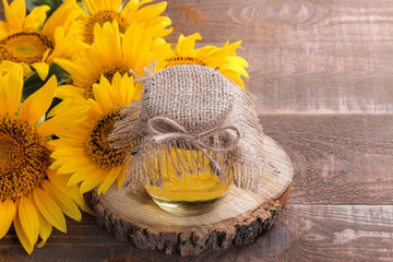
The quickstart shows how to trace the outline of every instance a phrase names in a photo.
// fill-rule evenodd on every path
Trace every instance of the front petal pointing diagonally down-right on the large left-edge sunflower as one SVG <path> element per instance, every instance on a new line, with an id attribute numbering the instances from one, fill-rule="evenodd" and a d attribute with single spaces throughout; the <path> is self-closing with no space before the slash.
<path id="1" fill-rule="evenodd" d="M 58 204 L 41 189 L 34 190 L 34 200 L 43 216 L 57 229 L 67 233 L 66 218 Z"/>

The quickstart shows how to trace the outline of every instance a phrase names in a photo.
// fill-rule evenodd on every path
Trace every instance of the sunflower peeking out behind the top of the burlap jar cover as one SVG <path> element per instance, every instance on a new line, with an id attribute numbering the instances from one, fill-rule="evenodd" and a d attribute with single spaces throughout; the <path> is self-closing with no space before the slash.
<path id="1" fill-rule="evenodd" d="M 222 48 L 215 46 L 205 46 L 195 49 L 195 41 L 201 40 L 200 34 L 184 37 L 179 36 L 175 49 L 165 59 L 166 66 L 176 64 L 200 64 L 212 69 L 217 69 L 227 79 L 234 81 L 237 85 L 245 87 L 241 76 L 249 78 L 245 68 L 248 68 L 247 61 L 236 56 L 236 49 L 240 47 L 241 41 L 229 45 L 226 41 Z"/>

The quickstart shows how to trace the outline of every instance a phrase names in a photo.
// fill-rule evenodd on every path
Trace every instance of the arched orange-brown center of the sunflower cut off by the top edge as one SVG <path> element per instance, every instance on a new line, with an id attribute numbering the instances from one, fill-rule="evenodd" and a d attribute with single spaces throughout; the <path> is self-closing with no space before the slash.
<path id="1" fill-rule="evenodd" d="M 84 41 L 88 45 L 92 45 L 92 43 L 94 41 L 95 24 L 99 24 L 103 26 L 105 22 L 112 22 L 114 20 L 118 22 L 120 32 L 124 33 L 129 26 L 129 23 L 123 16 L 121 16 L 120 13 L 110 10 L 103 10 L 91 15 L 85 25 L 85 31 L 83 34 Z"/>

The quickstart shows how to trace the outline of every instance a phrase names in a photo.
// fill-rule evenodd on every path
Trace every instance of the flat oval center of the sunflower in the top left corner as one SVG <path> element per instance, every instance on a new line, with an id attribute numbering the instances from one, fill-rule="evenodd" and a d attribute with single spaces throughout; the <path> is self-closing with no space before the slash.
<path id="1" fill-rule="evenodd" d="M 0 58 L 32 64 L 45 60 L 53 48 L 53 43 L 46 36 L 22 32 L 0 40 Z"/>

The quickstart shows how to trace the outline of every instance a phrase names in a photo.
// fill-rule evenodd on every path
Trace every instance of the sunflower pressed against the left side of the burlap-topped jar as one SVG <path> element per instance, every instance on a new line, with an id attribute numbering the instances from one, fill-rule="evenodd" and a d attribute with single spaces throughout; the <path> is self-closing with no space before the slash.
<path id="1" fill-rule="evenodd" d="M 99 84 L 93 85 L 93 93 L 95 100 L 75 95 L 68 103 L 69 110 L 74 106 L 90 105 L 88 117 L 67 132 L 56 133 L 59 139 L 50 142 L 55 148 L 51 157 L 56 159 L 51 167 L 58 168 L 58 174 L 71 174 L 68 184 L 81 183 L 81 193 L 98 184 L 98 193 L 105 193 L 115 180 L 119 188 L 123 183 L 127 152 L 117 153 L 109 146 L 107 138 L 120 116 L 117 107 L 139 99 L 142 88 L 134 86 L 132 78 L 127 74 L 121 78 L 117 72 L 111 84 L 103 75 Z"/>

